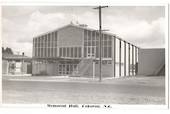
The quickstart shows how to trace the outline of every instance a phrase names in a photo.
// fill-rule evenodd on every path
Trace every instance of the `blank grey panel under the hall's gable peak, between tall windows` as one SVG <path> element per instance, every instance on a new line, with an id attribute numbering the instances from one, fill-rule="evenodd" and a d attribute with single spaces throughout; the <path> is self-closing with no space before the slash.
<path id="1" fill-rule="evenodd" d="M 68 26 L 58 31 L 57 46 L 82 46 L 83 30 L 77 27 Z"/>

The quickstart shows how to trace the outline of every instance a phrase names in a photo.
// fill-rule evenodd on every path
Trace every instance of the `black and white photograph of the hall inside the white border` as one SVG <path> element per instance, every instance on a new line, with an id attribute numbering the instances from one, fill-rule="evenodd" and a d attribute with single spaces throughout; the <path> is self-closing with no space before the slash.
<path id="1" fill-rule="evenodd" d="M 2 6 L 2 104 L 166 105 L 165 9 Z"/>

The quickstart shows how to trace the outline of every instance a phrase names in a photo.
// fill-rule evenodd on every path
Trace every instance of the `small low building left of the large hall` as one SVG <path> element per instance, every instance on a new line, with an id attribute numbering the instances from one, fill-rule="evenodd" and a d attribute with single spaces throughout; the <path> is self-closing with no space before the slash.
<path id="1" fill-rule="evenodd" d="M 2 54 L 2 74 L 32 74 L 31 58 L 24 55 Z"/>

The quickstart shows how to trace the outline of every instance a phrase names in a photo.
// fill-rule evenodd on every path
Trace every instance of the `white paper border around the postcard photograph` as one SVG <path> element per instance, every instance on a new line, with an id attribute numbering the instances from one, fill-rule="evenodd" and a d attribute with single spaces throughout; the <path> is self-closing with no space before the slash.
<path id="1" fill-rule="evenodd" d="M 7 0 L 7 1 L 10 1 L 10 0 Z M 88 0 L 87 0 L 88 1 Z M 101 5 L 101 3 L 87 3 L 87 1 L 85 2 L 85 4 L 82 4 L 82 3 L 78 3 L 78 4 L 72 4 L 72 3 L 63 3 L 63 2 L 60 2 L 60 3 L 49 3 L 49 2 L 46 2 L 46 3 L 41 3 L 41 2 L 26 2 L 26 3 L 21 3 L 21 2 L 16 2 L 16 3 L 1 3 L 0 5 L 1 6 L 6 6 L 6 5 L 11 5 L 11 6 L 23 6 L 23 5 L 26 5 L 26 6 L 35 6 L 35 5 L 39 5 L 39 6 L 96 6 L 96 5 Z M 169 22 L 168 20 L 168 4 L 166 4 L 166 2 L 161 2 L 161 3 L 104 3 L 102 5 L 110 5 L 110 6 L 165 6 L 165 19 L 166 19 L 166 23 Z M 1 10 L 0 10 L 1 11 Z M 1 20 L 1 15 L 0 15 L 0 20 Z M 169 63 L 169 43 L 168 43 L 168 24 L 165 25 L 166 26 L 166 38 L 165 38 L 165 49 L 166 49 L 166 63 Z M 1 29 L 2 30 L 2 29 Z M 0 35 L 1 35 L 1 32 L 0 32 Z M 1 39 L 0 39 L 1 40 Z M 0 42 L 0 45 L 1 42 Z M 1 53 L 0 53 L 0 56 L 1 56 Z M 0 63 L 2 63 L 2 60 L 0 60 Z M 2 64 L 1 64 L 2 65 Z M 168 70 L 168 65 L 169 64 L 166 64 L 166 77 L 165 77 L 165 80 L 166 80 L 166 105 L 112 105 L 112 109 L 167 109 L 167 106 L 168 106 L 168 92 L 169 92 L 169 78 L 168 78 L 168 75 L 169 75 L 169 70 Z M 2 74 L 2 69 L 0 69 L 0 73 Z M 0 77 L 0 79 L 2 80 L 2 76 Z M 2 87 L 2 82 L 0 82 L 0 87 Z M 2 88 L 0 90 L 0 93 L 2 92 Z M 2 98 L 2 97 L 1 97 Z M 2 99 L 1 99 L 2 100 Z M 101 104 L 101 106 L 103 106 Z M 18 104 L 1 104 L 1 107 L 2 108 L 47 108 L 46 104 L 42 104 L 42 105 L 33 105 L 33 104 L 29 104 L 29 105 L 18 105 Z M 57 108 L 58 109 L 58 108 Z M 80 108 L 81 109 L 81 108 Z M 92 108 L 93 109 L 93 108 Z"/>

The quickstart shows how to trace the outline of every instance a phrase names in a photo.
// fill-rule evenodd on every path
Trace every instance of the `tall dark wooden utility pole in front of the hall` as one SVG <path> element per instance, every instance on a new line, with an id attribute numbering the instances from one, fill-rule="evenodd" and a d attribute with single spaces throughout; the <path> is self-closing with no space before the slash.
<path id="1" fill-rule="evenodd" d="M 102 31 L 102 18 L 101 18 L 101 10 L 102 8 L 106 8 L 108 6 L 99 6 L 99 7 L 96 7 L 96 8 L 93 8 L 93 9 L 98 9 L 99 10 L 99 38 L 100 38 L 100 64 L 99 64 L 99 81 L 101 82 L 102 81 L 102 37 L 101 37 L 101 31 Z"/>

